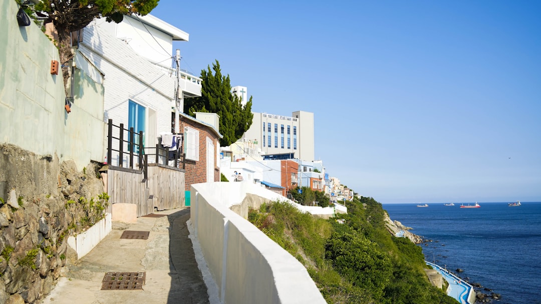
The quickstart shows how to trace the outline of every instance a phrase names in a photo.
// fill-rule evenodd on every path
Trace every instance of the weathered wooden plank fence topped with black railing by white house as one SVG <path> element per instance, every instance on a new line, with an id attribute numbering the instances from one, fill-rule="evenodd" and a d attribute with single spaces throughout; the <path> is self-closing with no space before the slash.
<path id="1" fill-rule="evenodd" d="M 182 134 L 177 134 L 177 136 Z M 180 144 L 180 141 L 179 141 Z M 143 132 L 108 122 L 108 194 L 111 204 L 137 205 L 137 217 L 184 206 L 184 154 L 143 146 Z"/>

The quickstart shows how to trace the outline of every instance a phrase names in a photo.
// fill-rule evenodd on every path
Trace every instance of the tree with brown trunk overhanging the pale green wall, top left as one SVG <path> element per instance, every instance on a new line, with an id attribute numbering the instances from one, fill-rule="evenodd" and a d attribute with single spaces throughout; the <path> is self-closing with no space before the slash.
<path id="1" fill-rule="evenodd" d="M 71 32 L 83 29 L 95 18 L 105 17 L 108 22 L 120 23 L 124 15 L 147 15 L 158 5 L 159 0 L 41 0 L 33 6 L 36 12 L 47 13 L 45 23 L 52 22 L 58 34 L 58 50 L 64 87 L 69 74 L 66 63 L 73 57 Z"/>

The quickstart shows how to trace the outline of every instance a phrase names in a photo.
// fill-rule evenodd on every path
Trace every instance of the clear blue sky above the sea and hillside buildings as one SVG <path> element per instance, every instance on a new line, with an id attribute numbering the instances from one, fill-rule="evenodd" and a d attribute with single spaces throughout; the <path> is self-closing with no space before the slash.
<path id="1" fill-rule="evenodd" d="M 541 201 L 541 2 L 161 0 L 252 110 L 315 119 L 315 157 L 379 202 Z"/>

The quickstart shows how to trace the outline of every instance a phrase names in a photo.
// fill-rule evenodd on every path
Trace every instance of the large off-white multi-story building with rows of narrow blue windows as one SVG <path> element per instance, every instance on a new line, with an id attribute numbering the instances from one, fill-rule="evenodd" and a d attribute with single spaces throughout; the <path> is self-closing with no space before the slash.
<path id="1" fill-rule="evenodd" d="M 292 116 L 255 113 L 244 134 L 265 155 L 278 159 L 314 160 L 314 113 L 296 111 Z"/>

